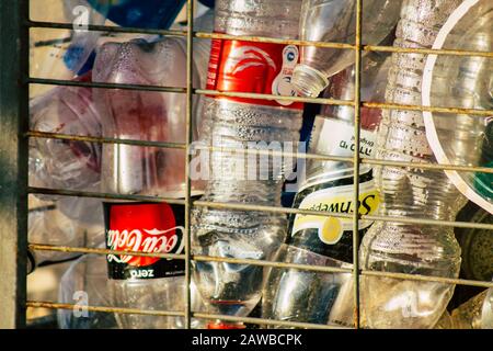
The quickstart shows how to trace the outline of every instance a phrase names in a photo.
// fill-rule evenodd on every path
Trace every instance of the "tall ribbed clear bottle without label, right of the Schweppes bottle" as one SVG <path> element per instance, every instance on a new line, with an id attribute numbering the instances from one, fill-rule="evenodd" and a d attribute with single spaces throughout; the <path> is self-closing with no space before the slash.
<path id="1" fill-rule="evenodd" d="M 458 0 L 404 0 L 394 46 L 431 47 Z M 392 55 L 386 100 L 421 104 L 425 56 Z M 386 110 L 377 138 L 377 158 L 434 162 L 416 111 Z M 380 215 L 454 220 L 463 199 L 443 171 L 377 166 Z M 460 247 L 451 227 L 377 222 L 359 250 L 364 270 L 457 278 Z M 363 276 L 362 306 L 370 328 L 432 328 L 454 292 L 452 284 Z"/>

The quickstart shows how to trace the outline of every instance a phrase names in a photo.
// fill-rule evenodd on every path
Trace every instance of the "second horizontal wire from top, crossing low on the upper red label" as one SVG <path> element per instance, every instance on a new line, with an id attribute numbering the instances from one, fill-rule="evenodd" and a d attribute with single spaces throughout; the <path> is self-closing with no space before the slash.
<path id="1" fill-rule="evenodd" d="M 26 78 L 25 81 L 27 83 L 48 84 L 48 86 L 70 86 L 70 87 L 87 87 L 87 88 L 98 88 L 98 89 L 125 89 L 125 90 L 139 90 L 139 91 L 160 91 L 160 92 L 186 93 L 186 89 L 181 88 L 181 87 L 85 82 L 85 81 L 72 81 L 72 80 L 51 79 L 51 78 L 49 78 L 49 79 L 48 78 L 34 78 L 34 77 Z M 257 100 L 279 100 L 279 101 L 293 101 L 293 102 L 319 103 L 319 104 L 326 104 L 326 105 L 354 106 L 354 101 L 325 99 L 325 98 L 284 97 L 284 95 L 261 94 L 261 93 L 253 93 L 253 92 L 232 92 L 232 91 L 218 91 L 218 90 L 207 90 L 207 89 L 193 89 L 193 92 L 195 94 L 206 94 L 206 95 L 215 95 L 215 97 L 244 98 L 244 99 L 257 99 Z M 379 103 L 379 102 L 370 102 L 370 101 L 362 102 L 362 104 L 363 104 L 363 106 L 369 107 L 369 109 L 429 111 L 429 112 L 437 112 L 437 113 L 469 114 L 469 115 L 477 115 L 477 116 L 492 116 L 493 115 L 493 110 L 405 105 L 405 104 Z"/>

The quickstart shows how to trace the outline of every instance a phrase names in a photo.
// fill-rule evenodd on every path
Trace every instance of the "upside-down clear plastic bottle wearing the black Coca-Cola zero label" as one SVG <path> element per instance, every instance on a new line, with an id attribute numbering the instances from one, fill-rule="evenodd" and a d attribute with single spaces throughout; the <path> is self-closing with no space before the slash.
<path id="1" fill-rule="evenodd" d="M 98 82 L 186 86 L 183 38 L 106 43 L 98 49 Z M 194 77 L 197 79 L 197 77 Z M 183 93 L 95 89 L 103 136 L 151 141 L 185 141 Z M 185 152 L 182 149 L 105 144 L 103 192 L 183 197 Z M 181 253 L 183 206 L 167 203 L 105 204 L 106 247 L 142 252 Z M 121 307 L 183 310 L 184 261 L 108 256 L 112 302 Z M 180 317 L 117 315 L 122 328 L 177 328 Z"/>

